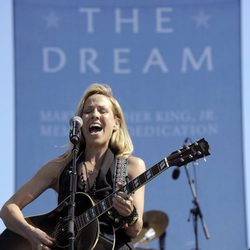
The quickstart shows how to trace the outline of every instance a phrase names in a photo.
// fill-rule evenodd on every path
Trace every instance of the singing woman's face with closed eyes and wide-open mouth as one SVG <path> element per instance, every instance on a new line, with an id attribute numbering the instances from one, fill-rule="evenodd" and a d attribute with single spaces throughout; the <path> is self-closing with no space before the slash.
<path id="1" fill-rule="evenodd" d="M 86 146 L 108 147 L 113 131 L 119 128 L 112 103 L 108 97 L 100 94 L 92 95 L 86 100 L 82 120 Z"/>

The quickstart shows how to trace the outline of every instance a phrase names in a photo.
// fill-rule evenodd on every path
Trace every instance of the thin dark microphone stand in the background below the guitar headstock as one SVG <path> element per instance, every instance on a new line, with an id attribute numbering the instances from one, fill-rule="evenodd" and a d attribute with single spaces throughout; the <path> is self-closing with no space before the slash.
<path id="1" fill-rule="evenodd" d="M 198 202 L 195 182 L 194 182 L 194 180 L 191 179 L 191 177 L 189 175 L 189 172 L 188 172 L 188 168 L 187 168 L 186 165 L 184 166 L 184 168 L 185 168 L 185 172 L 186 172 L 186 175 L 187 175 L 187 178 L 188 178 L 188 184 L 190 186 L 192 196 L 193 196 L 194 207 L 190 210 L 190 213 L 192 215 L 193 224 L 194 224 L 195 250 L 199 250 L 199 244 L 198 244 L 198 218 L 200 218 L 201 225 L 202 225 L 202 228 L 203 228 L 203 232 L 204 232 L 204 235 L 205 235 L 207 240 L 210 239 L 210 235 L 209 235 L 207 226 L 205 224 L 205 221 L 203 219 L 201 208 L 200 208 L 200 205 L 199 205 L 199 202 Z"/>

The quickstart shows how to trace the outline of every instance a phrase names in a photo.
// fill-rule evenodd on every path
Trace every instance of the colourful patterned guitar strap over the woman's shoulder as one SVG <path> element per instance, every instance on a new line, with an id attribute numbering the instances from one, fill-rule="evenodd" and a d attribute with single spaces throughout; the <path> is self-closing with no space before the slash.
<path id="1" fill-rule="evenodd" d="M 128 177 L 128 159 L 116 158 L 113 192 L 119 189 L 118 183 L 125 185 Z"/>

